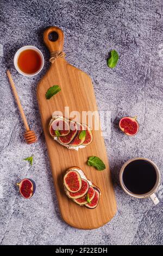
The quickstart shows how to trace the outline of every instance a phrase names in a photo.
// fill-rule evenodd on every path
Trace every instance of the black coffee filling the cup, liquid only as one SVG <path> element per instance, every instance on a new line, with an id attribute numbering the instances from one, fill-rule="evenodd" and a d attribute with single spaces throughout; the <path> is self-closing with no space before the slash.
<path id="1" fill-rule="evenodd" d="M 146 160 L 134 160 L 123 171 L 123 184 L 131 193 L 145 194 L 152 190 L 156 183 L 156 171 Z"/>

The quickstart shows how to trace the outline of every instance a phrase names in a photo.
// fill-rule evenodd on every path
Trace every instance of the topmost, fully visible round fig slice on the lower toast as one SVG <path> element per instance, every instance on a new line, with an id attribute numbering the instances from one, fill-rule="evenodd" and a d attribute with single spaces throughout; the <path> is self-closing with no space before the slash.
<path id="1" fill-rule="evenodd" d="M 64 176 L 64 185 L 70 192 L 78 192 L 82 187 L 82 179 L 76 170 L 69 170 Z"/>

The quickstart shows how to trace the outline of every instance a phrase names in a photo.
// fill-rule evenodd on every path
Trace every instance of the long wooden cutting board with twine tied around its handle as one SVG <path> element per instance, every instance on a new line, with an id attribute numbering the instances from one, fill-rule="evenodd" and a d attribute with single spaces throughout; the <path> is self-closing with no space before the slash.
<path id="1" fill-rule="evenodd" d="M 58 39 L 50 41 L 49 35 L 54 33 L 58 34 Z M 58 27 L 50 27 L 43 33 L 43 40 L 50 52 L 62 51 L 64 33 Z M 48 88 L 54 85 L 59 85 L 61 92 L 47 100 L 45 94 Z M 64 113 L 65 106 L 70 108 L 70 112 L 79 111 L 80 114 L 82 111 L 97 111 L 91 78 L 83 71 L 67 63 L 65 58 L 59 57 L 51 64 L 46 75 L 39 82 L 37 100 L 63 220 L 72 227 L 79 229 L 101 227 L 116 214 L 115 194 L 101 130 L 93 130 L 93 142 L 86 148 L 79 149 L 79 151 L 66 149 L 55 142 L 48 132 L 48 123 L 52 118 L 52 113 L 54 111 Z M 98 171 L 94 167 L 88 166 L 86 161 L 89 156 L 100 157 L 105 163 L 106 169 Z M 63 176 L 66 169 L 72 166 L 83 169 L 87 178 L 101 189 L 102 196 L 96 209 L 79 206 L 65 195 Z"/>

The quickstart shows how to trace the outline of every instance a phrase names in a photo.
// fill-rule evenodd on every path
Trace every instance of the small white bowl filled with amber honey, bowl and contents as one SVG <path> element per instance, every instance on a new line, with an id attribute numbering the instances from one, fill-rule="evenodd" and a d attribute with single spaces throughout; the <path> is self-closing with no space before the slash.
<path id="1" fill-rule="evenodd" d="M 35 46 L 27 45 L 21 47 L 14 56 L 16 70 L 24 76 L 35 76 L 39 74 L 44 65 L 42 52 Z"/>

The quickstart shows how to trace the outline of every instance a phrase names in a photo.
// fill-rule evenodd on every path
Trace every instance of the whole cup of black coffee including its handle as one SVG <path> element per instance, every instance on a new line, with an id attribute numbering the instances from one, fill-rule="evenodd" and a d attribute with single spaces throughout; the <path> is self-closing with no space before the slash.
<path id="1" fill-rule="evenodd" d="M 159 203 L 155 191 L 160 184 L 160 171 L 151 160 L 141 157 L 128 160 L 120 170 L 120 183 L 130 196 L 150 197 L 155 205 Z"/>

